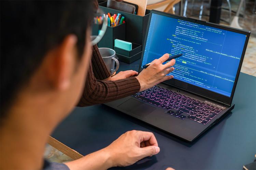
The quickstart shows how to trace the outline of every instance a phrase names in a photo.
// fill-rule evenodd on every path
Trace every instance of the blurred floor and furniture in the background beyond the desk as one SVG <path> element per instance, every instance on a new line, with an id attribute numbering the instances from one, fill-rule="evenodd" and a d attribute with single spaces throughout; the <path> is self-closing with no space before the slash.
<path id="1" fill-rule="evenodd" d="M 213 2 L 212 2 L 213 1 Z M 104 2 L 104 1 L 99 1 Z M 211 3 L 213 5 L 211 5 Z M 256 0 L 147 0 L 147 9 L 219 23 L 251 31 L 241 72 L 256 76 Z M 215 5 L 215 6 L 214 6 Z M 217 11 L 211 14 L 210 11 Z M 68 162 L 67 155 L 46 145 L 44 157 L 50 162 Z"/>

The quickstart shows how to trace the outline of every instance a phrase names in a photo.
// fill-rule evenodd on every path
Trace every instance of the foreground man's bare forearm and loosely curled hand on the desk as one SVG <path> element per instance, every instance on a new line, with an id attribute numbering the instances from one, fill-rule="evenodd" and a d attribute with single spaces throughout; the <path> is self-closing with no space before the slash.
<path id="1" fill-rule="evenodd" d="M 109 169 L 132 165 L 159 151 L 160 148 L 153 133 L 133 130 L 121 135 L 108 147 L 65 164 L 71 170 Z"/>

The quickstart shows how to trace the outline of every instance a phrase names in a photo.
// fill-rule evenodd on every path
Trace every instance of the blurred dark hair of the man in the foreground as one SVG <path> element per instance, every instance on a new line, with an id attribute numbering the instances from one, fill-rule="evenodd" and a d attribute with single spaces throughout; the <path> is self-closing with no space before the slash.
<path id="1" fill-rule="evenodd" d="M 40 66 L 69 35 L 82 55 L 95 1 L 1 1 L 1 118 Z"/>

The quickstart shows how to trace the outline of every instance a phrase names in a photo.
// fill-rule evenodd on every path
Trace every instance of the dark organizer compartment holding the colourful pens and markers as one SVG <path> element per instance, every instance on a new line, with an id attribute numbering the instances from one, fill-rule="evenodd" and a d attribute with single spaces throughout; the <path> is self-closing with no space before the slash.
<path id="1" fill-rule="evenodd" d="M 125 24 L 126 23 L 122 23 L 116 27 L 108 26 L 104 36 L 98 43 L 98 47 L 114 49 L 114 40 L 115 39 L 125 40 L 125 28 L 126 28 Z"/>

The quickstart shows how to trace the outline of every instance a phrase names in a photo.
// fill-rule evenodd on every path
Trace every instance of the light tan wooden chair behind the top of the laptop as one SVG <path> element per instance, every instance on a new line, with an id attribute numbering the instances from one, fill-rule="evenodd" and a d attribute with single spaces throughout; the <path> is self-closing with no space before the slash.
<path id="1" fill-rule="evenodd" d="M 155 8 L 166 6 L 166 8 L 163 10 L 163 12 L 168 12 L 168 13 L 171 13 L 171 14 L 175 14 L 175 12 L 173 10 L 173 6 L 176 3 L 179 3 L 180 1 L 181 0 L 162 0 L 160 2 L 155 2 L 153 4 L 148 4 L 147 9 L 148 10 L 153 10 Z"/>

